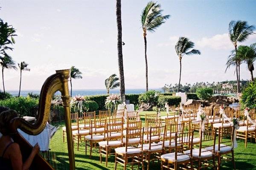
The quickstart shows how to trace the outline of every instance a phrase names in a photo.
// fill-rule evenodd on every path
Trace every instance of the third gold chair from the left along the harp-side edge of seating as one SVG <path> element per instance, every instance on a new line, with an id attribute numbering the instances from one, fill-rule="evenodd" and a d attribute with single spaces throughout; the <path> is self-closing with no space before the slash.
<path id="1" fill-rule="evenodd" d="M 100 117 L 100 116 L 99 116 Z M 93 144 L 104 141 L 107 119 L 94 119 L 90 121 L 90 133 L 85 136 L 85 155 L 87 155 L 87 141 L 90 142 L 90 157 L 92 156 Z M 103 134 L 103 135 L 102 135 Z"/>

